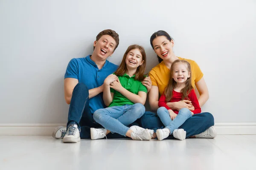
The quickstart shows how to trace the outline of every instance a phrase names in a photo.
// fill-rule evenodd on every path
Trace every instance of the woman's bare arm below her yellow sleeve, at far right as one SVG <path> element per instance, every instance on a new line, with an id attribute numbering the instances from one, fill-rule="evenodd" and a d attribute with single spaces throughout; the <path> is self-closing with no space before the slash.
<path id="1" fill-rule="evenodd" d="M 208 92 L 206 82 L 204 81 L 204 77 L 202 77 L 198 82 L 196 82 L 195 86 L 198 89 L 198 92 L 200 94 L 198 98 L 198 102 L 199 102 L 199 105 L 202 107 L 209 99 L 209 92 Z"/>

